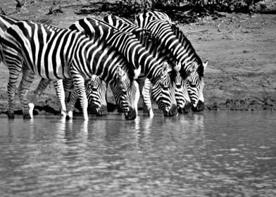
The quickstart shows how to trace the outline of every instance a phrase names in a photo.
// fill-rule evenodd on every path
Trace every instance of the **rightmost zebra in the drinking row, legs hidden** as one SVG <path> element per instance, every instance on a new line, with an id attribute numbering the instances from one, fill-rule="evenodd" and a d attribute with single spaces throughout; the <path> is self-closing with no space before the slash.
<path id="1" fill-rule="evenodd" d="M 149 30 L 153 37 L 160 40 L 165 46 L 167 53 L 175 61 L 181 63 L 180 74 L 183 79 L 187 79 L 187 91 L 192 103 L 193 111 L 204 109 L 203 98 L 203 73 L 208 61 L 203 63 L 197 55 L 191 42 L 184 36 L 182 31 L 170 18 L 158 13 L 142 13 L 136 16 L 135 24 Z"/>

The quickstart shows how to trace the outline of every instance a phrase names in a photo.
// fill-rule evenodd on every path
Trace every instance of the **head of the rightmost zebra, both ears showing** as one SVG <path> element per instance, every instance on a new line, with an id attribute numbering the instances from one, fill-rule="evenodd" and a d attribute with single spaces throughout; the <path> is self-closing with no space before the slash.
<path id="1" fill-rule="evenodd" d="M 202 73 L 206 69 L 207 63 L 208 61 L 206 61 L 206 63 L 203 63 Z M 199 66 L 196 62 L 192 63 L 192 67 L 196 68 L 197 71 L 193 72 L 189 77 L 187 77 L 187 90 L 192 103 L 192 111 L 200 112 L 204 110 L 203 74 L 201 74 L 201 72 L 198 72 Z"/>

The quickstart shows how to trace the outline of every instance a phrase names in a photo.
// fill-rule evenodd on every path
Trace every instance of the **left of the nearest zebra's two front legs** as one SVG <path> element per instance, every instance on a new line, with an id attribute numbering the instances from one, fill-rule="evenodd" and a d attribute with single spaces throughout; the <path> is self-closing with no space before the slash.
<path id="1" fill-rule="evenodd" d="M 66 117 L 66 105 L 65 105 L 65 93 L 63 89 L 63 82 L 62 80 L 55 80 L 54 87 L 56 89 L 56 95 L 58 96 L 58 101 L 61 106 L 61 117 Z"/>

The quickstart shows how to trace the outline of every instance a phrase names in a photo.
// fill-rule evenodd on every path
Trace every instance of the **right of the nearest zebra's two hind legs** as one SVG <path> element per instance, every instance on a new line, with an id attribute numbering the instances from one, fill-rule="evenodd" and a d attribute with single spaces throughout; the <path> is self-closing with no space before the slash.
<path id="1" fill-rule="evenodd" d="M 23 105 L 23 118 L 30 119 L 32 118 L 32 115 L 29 113 L 27 91 L 30 89 L 31 84 L 35 79 L 35 73 L 27 68 L 23 68 L 22 72 L 23 75 L 18 87 L 18 95 L 20 98 L 20 103 Z"/>

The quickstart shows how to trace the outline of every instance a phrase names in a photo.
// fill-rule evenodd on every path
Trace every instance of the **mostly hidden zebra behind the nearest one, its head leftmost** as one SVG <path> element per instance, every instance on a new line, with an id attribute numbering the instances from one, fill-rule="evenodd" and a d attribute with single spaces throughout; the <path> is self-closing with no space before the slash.
<path id="1" fill-rule="evenodd" d="M 20 20 L 15 18 L 10 18 L 6 15 L 0 15 L 0 37 L 3 37 L 4 32 L 8 27 L 11 27 L 14 23 L 19 22 Z M 1 55 L 0 55 L 0 63 L 1 63 Z M 92 79 L 85 82 L 85 91 L 88 98 L 88 103 L 92 106 L 92 109 L 96 111 L 97 116 L 106 115 L 107 114 L 107 102 L 106 102 L 106 84 L 97 77 L 96 75 L 92 75 Z M 29 103 L 29 113 L 30 117 L 33 117 L 33 110 L 35 108 L 34 103 L 37 101 L 39 96 L 42 94 L 44 89 L 48 86 L 49 82 L 51 80 L 42 79 L 37 89 L 34 91 L 34 95 L 31 97 L 31 101 Z M 68 83 L 68 80 L 63 80 L 63 87 L 65 87 L 65 91 L 72 91 L 72 84 L 73 81 L 70 80 Z M 97 88 L 91 89 L 92 87 L 97 86 Z M 66 92 L 65 92 L 66 93 Z M 73 101 L 76 98 L 73 98 Z M 100 100 L 99 100 L 100 99 Z M 68 98 L 68 101 L 70 101 L 70 98 Z M 63 102 L 63 101 L 62 101 Z M 62 106 L 65 106 L 65 103 L 62 104 Z"/>

